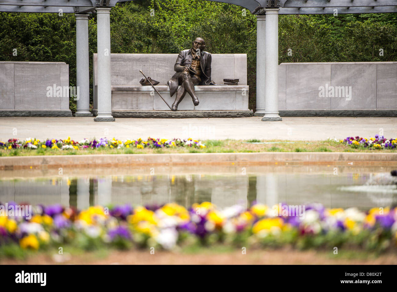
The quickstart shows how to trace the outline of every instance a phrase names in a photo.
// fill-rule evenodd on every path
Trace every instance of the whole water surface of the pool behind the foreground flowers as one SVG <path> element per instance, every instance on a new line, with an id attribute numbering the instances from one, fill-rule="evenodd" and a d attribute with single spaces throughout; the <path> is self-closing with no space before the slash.
<path id="1" fill-rule="evenodd" d="M 219 207 L 261 202 L 326 207 L 385 207 L 397 203 L 397 186 L 364 186 L 396 167 L 256 166 L 121 167 L 0 171 L 0 202 L 62 204 L 83 209 L 109 204 Z"/>

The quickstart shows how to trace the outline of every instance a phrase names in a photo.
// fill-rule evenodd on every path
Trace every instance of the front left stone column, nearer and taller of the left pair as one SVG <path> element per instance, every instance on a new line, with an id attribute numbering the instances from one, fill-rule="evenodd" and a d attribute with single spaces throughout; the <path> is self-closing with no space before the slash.
<path id="1" fill-rule="evenodd" d="M 94 121 L 114 122 L 110 91 L 110 9 L 96 8 L 98 43 L 98 115 Z"/>

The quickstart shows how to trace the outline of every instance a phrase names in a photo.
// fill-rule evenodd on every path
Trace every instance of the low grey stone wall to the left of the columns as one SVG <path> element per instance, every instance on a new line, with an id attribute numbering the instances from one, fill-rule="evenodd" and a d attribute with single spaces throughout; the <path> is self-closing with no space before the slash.
<path id="1" fill-rule="evenodd" d="M 0 116 L 71 117 L 69 98 L 64 90 L 57 95 L 58 86 L 69 87 L 64 62 L 0 62 Z"/>

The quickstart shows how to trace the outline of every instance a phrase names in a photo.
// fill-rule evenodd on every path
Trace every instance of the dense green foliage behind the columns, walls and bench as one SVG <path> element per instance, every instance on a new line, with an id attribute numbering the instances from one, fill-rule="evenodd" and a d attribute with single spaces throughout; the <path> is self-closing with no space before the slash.
<path id="1" fill-rule="evenodd" d="M 73 14 L 0 14 L 0 60 L 64 61 L 75 85 Z M 211 53 L 247 53 L 249 107 L 255 108 L 256 17 L 248 10 L 200 0 L 136 0 L 118 4 L 110 17 L 112 53 L 177 53 L 197 36 Z M 89 19 L 89 52 L 92 72 L 95 14 Z M 280 63 L 326 61 L 397 61 L 397 13 L 279 16 Z M 72 100 L 70 108 L 75 110 Z"/>

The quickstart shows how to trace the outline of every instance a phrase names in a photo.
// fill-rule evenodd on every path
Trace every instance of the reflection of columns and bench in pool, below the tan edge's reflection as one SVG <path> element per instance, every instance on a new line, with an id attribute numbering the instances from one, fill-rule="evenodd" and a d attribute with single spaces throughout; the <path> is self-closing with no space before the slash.
<path id="1" fill-rule="evenodd" d="M 110 172 L 110 171 L 109 171 Z M 164 204 L 190 207 L 209 201 L 219 207 L 260 202 L 268 206 L 321 203 L 326 207 L 391 206 L 397 202 L 396 186 L 374 192 L 362 186 L 370 173 L 267 172 L 243 175 L 93 175 L 0 181 L 0 202 L 62 204 L 83 209 L 109 204 Z"/>

